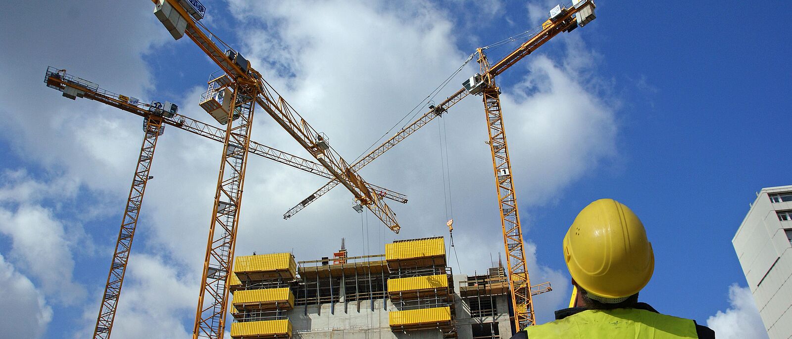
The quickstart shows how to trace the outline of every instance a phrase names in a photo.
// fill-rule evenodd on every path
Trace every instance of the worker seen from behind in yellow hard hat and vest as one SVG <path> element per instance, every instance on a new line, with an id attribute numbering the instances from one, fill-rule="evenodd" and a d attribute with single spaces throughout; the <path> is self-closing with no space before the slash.
<path id="1" fill-rule="evenodd" d="M 566 232 L 563 250 L 577 298 L 555 311 L 554 322 L 528 326 L 512 339 L 715 337 L 695 320 L 638 302 L 654 271 L 654 253 L 641 220 L 626 205 L 600 199 L 586 206 Z"/>

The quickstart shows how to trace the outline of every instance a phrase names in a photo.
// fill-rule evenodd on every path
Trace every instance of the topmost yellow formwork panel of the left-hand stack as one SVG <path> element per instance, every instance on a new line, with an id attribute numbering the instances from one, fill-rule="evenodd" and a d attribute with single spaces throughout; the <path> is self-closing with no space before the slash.
<path id="1" fill-rule="evenodd" d="M 246 255 L 234 260 L 234 273 L 244 279 L 246 274 L 257 277 L 290 277 L 297 273 L 297 262 L 291 253 Z"/>

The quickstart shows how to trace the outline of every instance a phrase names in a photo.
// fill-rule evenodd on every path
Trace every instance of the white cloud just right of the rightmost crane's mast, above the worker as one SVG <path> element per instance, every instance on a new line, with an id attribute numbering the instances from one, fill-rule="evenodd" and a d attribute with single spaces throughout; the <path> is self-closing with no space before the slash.
<path id="1" fill-rule="evenodd" d="M 615 155 L 617 123 L 615 108 L 576 79 L 576 71 L 544 55 L 527 66 L 529 75 L 502 96 L 502 106 L 520 202 L 543 205 Z"/>

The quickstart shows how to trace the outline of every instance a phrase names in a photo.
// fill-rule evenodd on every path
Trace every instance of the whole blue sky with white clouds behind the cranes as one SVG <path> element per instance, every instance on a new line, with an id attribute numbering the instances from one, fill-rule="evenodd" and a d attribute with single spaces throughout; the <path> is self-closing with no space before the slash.
<path id="1" fill-rule="evenodd" d="M 554 6 L 204 4 L 208 27 L 347 160 L 421 103 L 475 47 L 535 27 Z M 615 198 L 642 218 L 653 242 L 656 268 L 644 301 L 699 323 L 722 311 L 752 319 L 746 327 L 761 326 L 750 303 L 738 302 L 744 290 L 731 287 L 746 284 L 731 239 L 754 192 L 790 184 L 788 28 L 765 24 L 790 6 L 597 6 L 596 21 L 554 38 L 497 80 L 525 238 L 535 249 L 532 281 L 551 281 L 555 289 L 536 298 L 539 319 L 550 320 L 569 293 L 560 255 L 566 228 L 588 202 Z M 18 322 L 0 321 L 4 333 L 89 335 L 142 136 L 139 118 L 48 89 L 46 67 L 113 92 L 173 101 L 183 114 L 211 122 L 197 100 L 217 67 L 192 41 L 174 41 L 152 7 L 0 5 L 13 14 L 0 27 L 16 32 L 0 37 L 0 284 L 16 291 L 4 304 L 20 310 Z M 467 66 L 436 100 L 477 70 Z M 256 119 L 254 140 L 307 157 L 268 116 Z M 451 266 L 472 274 L 502 251 L 482 104 L 466 98 L 442 121 L 463 263 Z M 432 122 L 361 172 L 409 195 L 409 204 L 391 204 L 402 221 L 398 237 L 373 216 L 361 219 L 341 189 L 281 219 L 324 180 L 250 160 L 238 253 L 294 251 L 298 260 L 312 260 L 331 254 L 341 237 L 359 255 L 381 252 L 393 239 L 446 235 L 439 131 Z M 114 337 L 184 337 L 192 328 L 222 150 L 196 138 L 168 128 L 158 145 Z"/>

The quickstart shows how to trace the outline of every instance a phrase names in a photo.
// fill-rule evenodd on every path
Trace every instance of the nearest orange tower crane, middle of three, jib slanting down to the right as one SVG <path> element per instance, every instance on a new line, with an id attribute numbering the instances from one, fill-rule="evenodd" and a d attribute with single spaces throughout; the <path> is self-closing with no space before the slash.
<path id="1" fill-rule="evenodd" d="M 203 280 L 192 337 L 222 338 L 227 315 L 227 277 L 238 227 L 245 182 L 250 127 L 258 104 L 304 149 L 344 185 L 360 206 L 366 206 L 392 231 L 401 228 L 396 215 L 349 164 L 330 147 L 327 138 L 303 119 L 240 53 L 212 34 L 200 20 L 206 8 L 198 0 L 152 0 L 154 15 L 174 39 L 185 34 L 222 70 L 209 81 L 201 100 L 210 115 L 227 124 Z M 218 229 L 219 227 L 219 229 Z"/>

